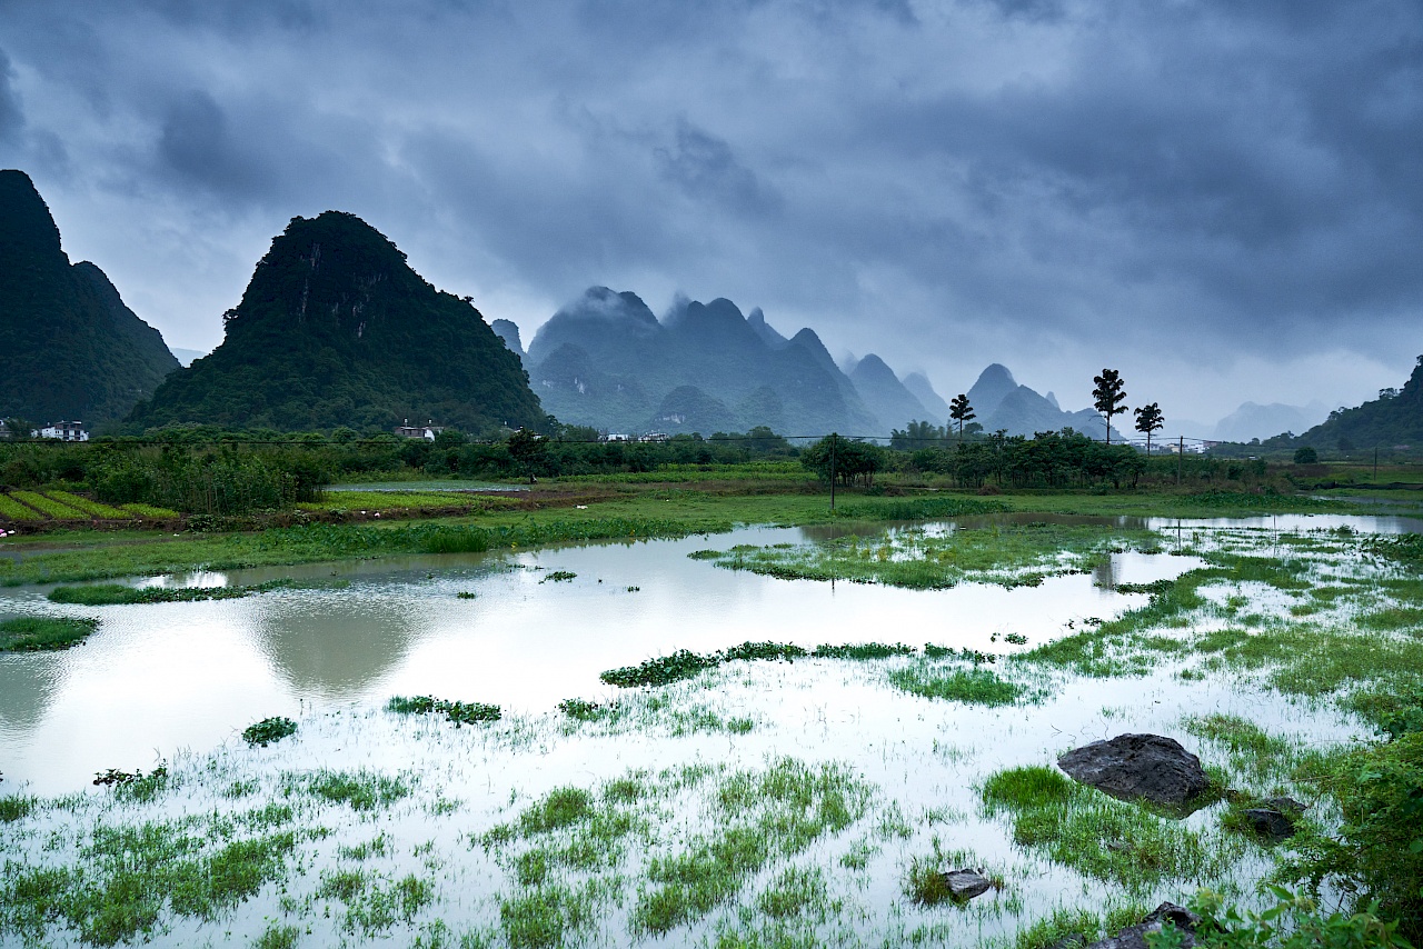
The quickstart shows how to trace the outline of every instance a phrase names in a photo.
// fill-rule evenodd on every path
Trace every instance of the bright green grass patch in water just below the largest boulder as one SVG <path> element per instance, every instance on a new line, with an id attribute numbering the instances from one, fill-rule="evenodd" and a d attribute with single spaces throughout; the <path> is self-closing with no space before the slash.
<path id="1" fill-rule="evenodd" d="M 1052 768 L 999 771 L 983 783 L 982 797 L 988 815 L 1010 815 L 1015 844 L 1133 891 L 1165 879 L 1201 881 L 1228 862 L 1197 831 Z"/>

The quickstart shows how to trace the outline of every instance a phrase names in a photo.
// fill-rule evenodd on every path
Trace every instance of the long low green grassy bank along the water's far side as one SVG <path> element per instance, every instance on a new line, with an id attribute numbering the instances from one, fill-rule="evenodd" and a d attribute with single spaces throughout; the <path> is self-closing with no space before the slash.
<path id="1" fill-rule="evenodd" d="M 652 472 L 646 477 L 666 472 Z M 727 471 L 673 472 L 696 489 L 665 482 L 638 484 L 643 475 L 610 475 L 608 484 L 536 485 L 518 498 L 438 492 L 332 492 L 322 505 L 326 522 L 256 531 L 57 529 L 41 538 L 4 538 L 0 586 L 73 582 L 186 571 L 233 569 L 380 558 L 410 553 L 475 552 L 598 539 L 646 539 L 717 534 L 739 524 L 811 525 L 830 521 L 896 521 L 995 511 L 1091 516 L 1244 516 L 1286 511 L 1369 511 L 1305 497 L 1231 492 L 1020 492 L 983 498 L 968 492 L 924 491 L 905 497 L 844 492 L 832 514 L 827 495 L 804 477 L 767 478 L 756 467 L 737 479 Z M 751 477 L 754 475 L 754 477 Z M 53 492 L 51 492 L 53 494 Z M 447 515 L 450 498 L 468 508 Z M 332 501 L 336 499 L 336 501 Z M 367 504 L 369 507 L 359 507 Z M 337 507 L 333 507 L 337 505 Z M 376 507 L 380 505 L 380 507 Z M 332 514 L 336 511 L 337 514 Z M 364 514 L 361 514 L 364 512 Z M 376 515 L 380 514 L 380 518 Z M 300 512 L 297 512 L 300 515 Z M 361 522 L 330 522 L 353 516 Z M 58 549 L 55 549 L 58 548 Z"/>

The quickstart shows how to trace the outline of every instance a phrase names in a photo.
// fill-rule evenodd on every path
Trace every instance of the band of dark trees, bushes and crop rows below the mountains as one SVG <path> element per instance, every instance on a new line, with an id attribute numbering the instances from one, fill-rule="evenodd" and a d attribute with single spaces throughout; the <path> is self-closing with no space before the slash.
<path id="1" fill-rule="evenodd" d="M 351 433 L 354 435 L 354 433 Z M 575 433 L 576 434 L 576 433 Z M 983 437 L 904 448 L 827 437 L 801 447 L 768 431 L 677 435 L 663 442 L 515 438 L 471 442 L 458 433 L 424 440 L 324 435 L 213 440 L 175 433 L 166 441 L 0 442 L 0 521 L 17 529 L 83 522 L 172 521 L 253 512 L 366 516 L 373 509 L 448 515 L 498 507 L 488 495 L 431 489 L 451 478 L 538 481 L 576 494 L 677 484 L 717 492 L 1228 491 L 1289 495 L 1315 487 L 1366 485 L 1365 470 L 1259 458 L 1147 457 L 1076 433 Z M 447 437 L 448 435 L 448 437 Z M 522 433 L 521 433 L 522 435 Z M 1372 477 L 1372 468 L 1366 470 Z M 1409 467 L 1380 481 L 1412 482 Z M 418 491 L 379 498 L 327 492 L 332 484 L 420 481 Z M 531 485 L 534 487 L 534 485 Z M 386 515 L 388 516 L 388 514 Z"/>

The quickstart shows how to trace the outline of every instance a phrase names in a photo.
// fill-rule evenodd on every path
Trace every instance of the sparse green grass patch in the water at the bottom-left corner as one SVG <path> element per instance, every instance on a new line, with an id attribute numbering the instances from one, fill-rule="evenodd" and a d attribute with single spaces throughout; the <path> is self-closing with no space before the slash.
<path id="1" fill-rule="evenodd" d="M 70 866 L 6 861 L 0 933 L 47 943 L 63 926 L 85 943 L 149 939 L 165 916 L 213 921 L 270 881 L 296 847 L 292 829 L 242 835 L 242 821 L 188 817 L 80 831 Z"/>

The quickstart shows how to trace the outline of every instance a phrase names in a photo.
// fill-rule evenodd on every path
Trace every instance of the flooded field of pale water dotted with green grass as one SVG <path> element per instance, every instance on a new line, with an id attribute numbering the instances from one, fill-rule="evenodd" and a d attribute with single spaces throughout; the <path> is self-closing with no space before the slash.
<path id="1" fill-rule="evenodd" d="M 1232 831 L 1225 801 L 1184 820 L 1054 811 L 1050 838 L 1087 841 L 1064 854 L 1023 829 L 1047 811 L 995 804 L 986 783 L 1151 731 L 1222 791 L 1291 792 L 1336 821 L 1292 768 L 1373 734 L 1338 700 L 1379 676 L 1311 650 L 1414 609 L 1416 582 L 1365 545 L 1420 528 L 1036 515 L 135 580 L 297 582 L 202 602 L 0 590 L 0 619 L 98 620 L 78 647 L 0 656 L 0 945 L 1030 946 L 1054 915 L 1087 931 L 1207 885 L 1255 905 L 1281 851 Z M 1019 559 L 980 569 L 973 538 Z M 865 571 L 953 555 L 968 573 L 901 589 L 747 566 L 825 551 Z M 1198 602 L 1158 603 L 1192 576 Z M 1410 622 L 1370 626 L 1403 669 L 1423 666 Z M 912 652 L 601 679 L 746 642 Z M 295 734 L 242 740 L 269 717 Z M 110 768 L 139 777 L 94 787 Z M 961 866 L 993 889 L 925 898 L 926 874 Z"/>

